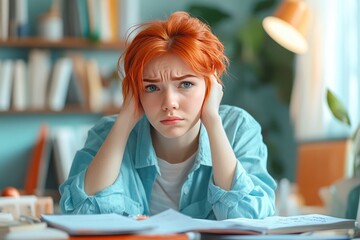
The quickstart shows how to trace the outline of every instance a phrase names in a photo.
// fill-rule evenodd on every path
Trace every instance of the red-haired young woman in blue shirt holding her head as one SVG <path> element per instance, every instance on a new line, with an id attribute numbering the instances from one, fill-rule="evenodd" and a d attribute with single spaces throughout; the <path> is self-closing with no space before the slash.
<path id="1" fill-rule="evenodd" d="M 274 213 L 259 124 L 220 106 L 227 58 L 207 25 L 185 12 L 141 26 L 119 60 L 124 104 L 104 117 L 60 186 L 64 213 L 203 219 Z"/>

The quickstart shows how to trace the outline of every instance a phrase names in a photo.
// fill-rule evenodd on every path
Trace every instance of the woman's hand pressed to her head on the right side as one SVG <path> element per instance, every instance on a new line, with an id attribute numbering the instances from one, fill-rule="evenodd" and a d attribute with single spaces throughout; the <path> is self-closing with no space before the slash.
<path id="1" fill-rule="evenodd" d="M 203 104 L 201 111 L 201 121 L 205 127 L 210 126 L 210 122 L 219 117 L 220 102 L 223 97 L 223 86 L 218 83 L 216 77 L 212 75 L 209 96 Z"/>

